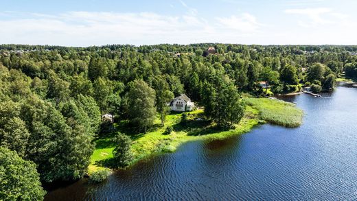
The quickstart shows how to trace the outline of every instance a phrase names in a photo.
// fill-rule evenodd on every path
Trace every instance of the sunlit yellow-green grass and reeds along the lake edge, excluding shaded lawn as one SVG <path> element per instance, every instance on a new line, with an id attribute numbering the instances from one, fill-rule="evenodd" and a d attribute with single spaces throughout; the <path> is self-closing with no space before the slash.
<path id="1" fill-rule="evenodd" d="M 131 167 L 137 162 L 153 156 L 154 154 L 175 152 L 183 143 L 187 143 L 189 141 L 213 141 L 227 139 L 235 135 L 251 132 L 255 126 L 264 123 L 271 123 L 287 128 L 295 128 L 300 126 L 302 123 L 303 111 L 292 103 L 284 102 L 278 99 L 266 98 L 245 98 L 245 101 L 248 103 L 246 104 L 244 117 L 240 123 L 234 125 L 234 129 L 230 130 L 196 128 L 194 132 L 199 132 L 197 135 L 192 135 L 192 130 L 185 129 L 174 131 L 172 134 L 163 135 L 162 133 L 165 131 L 167 126 L 176 126 L 179 124 L 182 113 L 168 115 L 168 120 L 164 127 L 154 130 L 153 132 L 150 131 L 147 134 L 143 134 L 141 137 L 133 140 L 132 150 L 135 158 L 128 167 Z M 289 122 L 276 121 L 277 118 L 281 117 L 281 114 L 283 113 L 288 113 L 286 116 L 290 118 L 288 119 Z M 203 115 L 203 110 L 195 110 L 187 113 L 187 115 L 197 117 L 197 115 Z M 200 134 L 200 132 L 203 132 L 203 134 Z M 132 136 L 132 138 L 133 137 L 136 138 L 136 136 Z M 105 147 L 102 149 L 96 149 L 95 152 L 93 152 L 91 156 L 91 165 L 88 167 L 89 175 L 100 169 L 109 169 L 111 172 L 115 171 L 115 169 L 102 167 L 96 164 L 97 162 L 111 158 L 112 150 L 113 147 Z M 94 156 L 97 155 L 101 155 L 102 157 L 95 158 Z M 128 167 L 122 169 L 126 169 Z"/>

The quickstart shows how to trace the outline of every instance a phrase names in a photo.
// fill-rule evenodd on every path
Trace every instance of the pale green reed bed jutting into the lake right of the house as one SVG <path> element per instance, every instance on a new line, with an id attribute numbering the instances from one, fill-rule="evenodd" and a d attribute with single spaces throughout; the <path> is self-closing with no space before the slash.
<path id="1" fill-rule="evenodd" d="M 294 128 L 303 121 L 303 111 L 295 104 L 277 99 L 246 98 L 246 104 L 260 111 L 260 118 L 269 123 Z"/>

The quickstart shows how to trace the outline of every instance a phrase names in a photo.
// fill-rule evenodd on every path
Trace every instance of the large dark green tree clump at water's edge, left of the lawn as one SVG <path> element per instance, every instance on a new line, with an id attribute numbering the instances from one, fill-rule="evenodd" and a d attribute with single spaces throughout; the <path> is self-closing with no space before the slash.
<path id="1" fill-rule="evenodd" d="M 93 136 L 83 115 L 73 102 L 64 117 L 54 106 L 32 98 L 21 107 L 22 119 L 29 128 L 27 159 L 38 165 L 41 180 L 73 180 L 81 178 L 93 152 Z"/>

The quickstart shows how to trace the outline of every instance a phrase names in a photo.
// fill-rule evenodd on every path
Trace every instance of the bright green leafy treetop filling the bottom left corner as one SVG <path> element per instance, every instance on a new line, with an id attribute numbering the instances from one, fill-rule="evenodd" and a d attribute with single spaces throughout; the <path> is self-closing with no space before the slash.
<path id="1" fill-rule="evenodd" d="M 36 165 L 0 147 L 0 200 L 43 200 Z"/>

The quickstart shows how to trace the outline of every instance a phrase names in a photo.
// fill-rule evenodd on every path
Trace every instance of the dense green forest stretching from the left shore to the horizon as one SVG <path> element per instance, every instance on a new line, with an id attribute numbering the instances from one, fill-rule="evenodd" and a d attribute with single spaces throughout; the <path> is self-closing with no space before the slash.
<path id="1" fill-rule="evenodd" d="M 242 93 L 332 91 L 336 78 L 357 78 L 356 53 L 357 46 L 0 45 L 0 200 L 38 199 L 41 182 L 82 178 L 93 138 L 114 129 L 102 115 L 145 133 L 157 116 L 164 125 L 167 103 L 185 93 L 218 127 L 230 126 L 242 118 Z M 117 137 L 117 167 L 130 161 L 128 140 Z M 16 182 L 23 188 L 10 191 Z"/>

